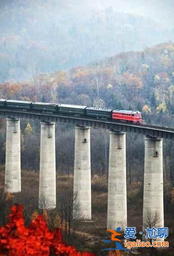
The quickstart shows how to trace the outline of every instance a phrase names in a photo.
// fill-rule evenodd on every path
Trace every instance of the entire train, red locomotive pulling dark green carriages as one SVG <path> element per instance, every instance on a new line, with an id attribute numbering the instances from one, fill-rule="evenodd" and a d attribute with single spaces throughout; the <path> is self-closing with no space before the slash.
<path id="1" fill-rule="evenodd" d="M 34 112 L 50 112 L 60 115 L 69 115 L 76 117 L 93 117 L 108 121 L 120 120 L 133 123 L 141 123 L 142 116 L 139 111 L 119 110 L 109 108 L 94 108 L 87 106 L 54 104 L 43 102 L 31 102 L 11 99 L 0 99 L 0 108 L 13 108 L 22 111 L 31 110 Z"/>

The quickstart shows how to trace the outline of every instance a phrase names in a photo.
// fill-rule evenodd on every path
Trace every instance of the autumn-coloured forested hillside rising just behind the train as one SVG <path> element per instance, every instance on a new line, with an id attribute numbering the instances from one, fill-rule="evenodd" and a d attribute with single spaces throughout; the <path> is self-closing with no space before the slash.
<path id="1" fill-rule="evenodd" d="M 117 54 L 69 71 L 4 82 L 0 97 L 174 113 L 174 44 Z"/>

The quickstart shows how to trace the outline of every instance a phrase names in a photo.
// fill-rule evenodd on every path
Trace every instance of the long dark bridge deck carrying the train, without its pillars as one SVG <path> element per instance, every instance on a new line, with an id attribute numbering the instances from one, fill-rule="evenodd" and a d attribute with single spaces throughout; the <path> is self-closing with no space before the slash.
<path id="1" fill-rule="evenodd" d="M 39 113 L 34 111 L 22 111 L 17 109 L 0 108 L 1 117 L 28 118 L 40 121 L 53 121 L 65 124 L 74 124 L 77 126 L 91 126 L 93 128 L 101 128 L 108 130 L 118 130 L 123 132 L 133 132 L 142 135 L 149 135 L 164 139 L 174 139 L 174 129 L 161 126 L 153 126 L 146 124 L 123 123 L 119 121 L 105 121 L 101 119 L 93 119 L 87 117 L 74 117 L 66 115 L 58 115 L 52 113 Z"/>

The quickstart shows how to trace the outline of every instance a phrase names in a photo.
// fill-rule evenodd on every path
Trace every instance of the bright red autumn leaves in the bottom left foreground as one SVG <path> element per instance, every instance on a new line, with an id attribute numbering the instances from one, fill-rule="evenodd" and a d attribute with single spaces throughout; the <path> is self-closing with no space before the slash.
<path id="1" fill-rule="evenodd" d="M 0 227 L 0 256 L 94 256 L 63 243 L 60 229 L 50 231 L 43 216 L 26 227 L 23 211 L 22 205 L 12 206 L 9 223 Z"/>

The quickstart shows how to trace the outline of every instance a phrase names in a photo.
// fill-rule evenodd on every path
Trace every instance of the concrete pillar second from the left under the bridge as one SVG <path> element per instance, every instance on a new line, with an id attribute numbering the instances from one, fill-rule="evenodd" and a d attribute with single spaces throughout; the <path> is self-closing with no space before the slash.
<path id="1" fill-rule="evenodd" d="M 55 123 L 41 122 L 39 208 L 56 207 Z"/>

